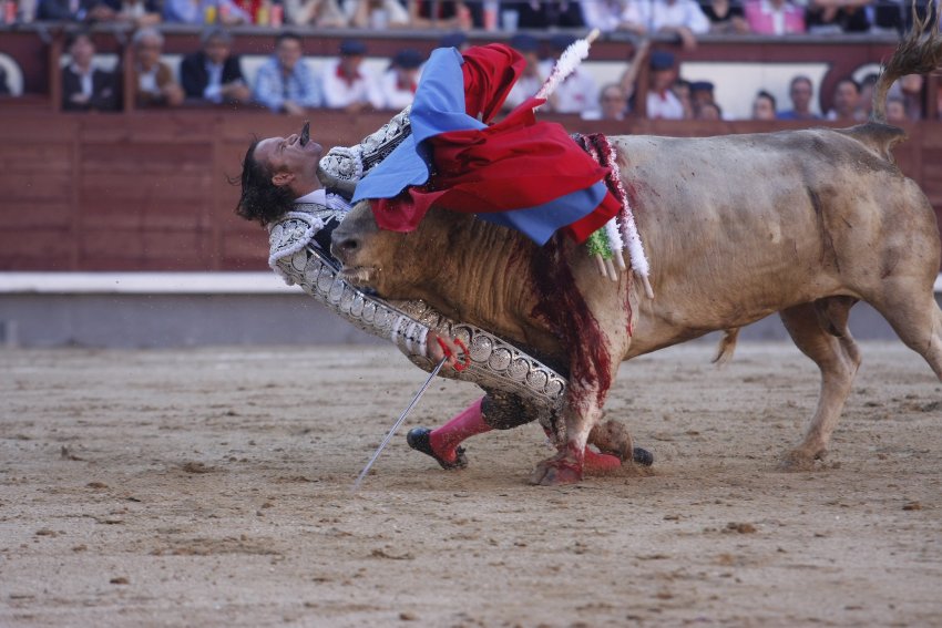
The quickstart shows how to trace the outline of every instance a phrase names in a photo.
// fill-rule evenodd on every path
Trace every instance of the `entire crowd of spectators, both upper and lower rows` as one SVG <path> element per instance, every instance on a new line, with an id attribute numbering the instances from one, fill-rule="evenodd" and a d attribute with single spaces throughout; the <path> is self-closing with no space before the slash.
<path id="1" fill-rule="evenodd" d="M 8 2 L 11 0 L 7 0 Z M 336 56 L 311 68 L 305 59 L 304 40 L 285 30 L 290 25 L 321 28 L 452 29 L 444 45 L 461 45 L 469 29 L 499 27 L 525 30 L 510 43 L 526 60 L 523 75 L 510 92 L 505 109 L 533 95 L 552 72 L 554 60 L 574 38 L 554 34 L 537 40 L 531 33 L 550 28 L 598 28 L 625 31 L 647 41 L 652 33 L 667 34 L 684 49 L 693 49 L 707 33 L 864 32 L 902 30 L 911 20 L 909 0 L 18 0 L 21 20 L 55 20 L 82 23 L 125 22 L 136 30 L 132 38 L 133 69 L 106 72 L 93 66 L 94 43 L 85 33 L 71 37 L 68 65 L 62 72 L 62 107 L 68 111 L 116 111 L 122 105 L 122 80 L 133 81 L 136 107 L 181 104 L 227 104 L 267 107 L 300 114 L 315 107 L 356 113 L 365 109 L 399 110 L 411 102 L 424 58 L 406 49 L 388 60 L 379 72 L 364 66 L 367 47 L 345 40 Z M 917 0 L 924 14 L 932 0 Z M 29 14 L 28 14 L 29 13 Z M 154 27 L 185 23 L 204 27 L 201 49 L 183 58 L 178 72 L 162 61 L 163 37 Z M 226 27 L 260 24 L 278 29 L 273 54 L 247 80 L 238 56 L 232 54 Z M 647 44 L 644 44 L 645 47 Z M 647 63 L 644 107 L 634 102 L 635 78 L 641 61 Z M 859 122 L 869 115 L 876 76 L 860 83 L 853 78 L 838 82 L 829 99 L 832 109 L 821 119 Z M 775 86 L 770 86 L 775 87 Z M 815 120 L 811 102 L 815 85 L 808 76 L 795 76 L 789 85 L 791 106 L 776 103 L 774 89 L 760 90 L 752 103 L 757 120 Z M 898 121 L 918 120 L 923 109 L 921 76 L 908 76 L 894 85 L 888 101 Z M 621 81 L 600 85 L 584 69 L 564 81 L 545 111 L 576 113 L 588 120 L 622 120 L 643 109 L 649 119 L 723 120 L 724 113 L 707 81 L 678 76 L 674 55 L 665 50 L 639 50 Z"/>

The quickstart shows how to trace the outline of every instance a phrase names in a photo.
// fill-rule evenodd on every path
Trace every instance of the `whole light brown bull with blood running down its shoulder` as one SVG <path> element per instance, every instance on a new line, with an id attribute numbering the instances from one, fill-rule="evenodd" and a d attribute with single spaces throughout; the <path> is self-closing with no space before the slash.
<path id="1" fill-rule="evenodd" d="M 934 29 L 933 29 L 934 30 Z M 940 266 L 932 207 L 890 150 L 903 138 L 883 120 L 887 89 L 942 58 L 938 32 L 917 29 L 888 64 L 876 120 L 707 138 L 612 138 L 651 260 L 655 298 L 623 275 L 603 278 L 584 247 L 559 237 L 536 247 L 471 216 L 432 210 L 418 230 L 379 230 L 360 204 L 334 231 L 347 277 L 387 298 L 424 299 L 457 320 L 529 346 L 569 373 L 567 442 L 533 475 L 582 477 L 581 452 L 622 360 L 779 312 L 821 370 L 821 397 L 801 443 L 803 466 L 827 451 L 853 377 L 847 327 L 859 300 L 882 313 L 942 379 Z"/>

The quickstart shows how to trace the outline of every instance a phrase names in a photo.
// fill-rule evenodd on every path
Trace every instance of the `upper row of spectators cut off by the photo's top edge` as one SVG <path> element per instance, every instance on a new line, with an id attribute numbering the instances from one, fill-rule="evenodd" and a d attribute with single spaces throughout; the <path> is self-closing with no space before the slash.
<path id="1" fill-rule="evenodd" d="M 17 21 L 545 30 L 673 35 L 901 31 L 910 0 L 6 0 Z M 917 0 L 921 14 L 934 0 Z M 9 17 L 6 17 L 9 20 Z"/>

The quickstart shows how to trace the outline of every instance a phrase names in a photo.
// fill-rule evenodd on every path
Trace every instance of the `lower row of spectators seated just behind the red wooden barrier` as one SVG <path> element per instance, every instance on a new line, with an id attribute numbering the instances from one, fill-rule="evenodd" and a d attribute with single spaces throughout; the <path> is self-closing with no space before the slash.
<path id="1" fill-rule="evenodd" d="M 511 38 L 511 45 L 522 54 L 526 65 L 509 92 L 504 109 L 513 109 L 534 95 L 553 71 L 555 60 L 573 41 L 567 34 L 556 34 L 546 42 L 525 33 Z M 305 58 L 303 38 L 281 31 L 274 39 L 272 54 L 249 81 L 243 74 L 239 58 L 232 52 L 232 35 L 224 27 L 204 29 L 199 50 L 183 56 L 178 72 L 162 60 L 163 43 L 155 28 L 139 29 L 131 40 L 131 71 L 125 73 L 119 65 L 107 72 L 94 66 L 95 48 L 88 32 L 73 33 L 66 45 L 68 63 L 62 71 L 62 109 L 117 111 L 122 105 L 122 79 L 130 76 L 134 106 L 140 109 L 182 104 L 247 105 L 296 115 L 317 107 L 347 113 L 398 111 L 411 103 L 426 61 L 418 51 L 403 49 L 379 71 L 370 72 L 364 65 L 368 52 L 366 43 L 346 39 L 336 56 L 322 61 L 315 70 Z M 461 49 L 467 45 L 467 37 L 455 31 L 439 43 Z M 545 51 L 549 54 L 541 55 Z M 642 109 L 634 95 L 643 64 L 646 64 L 648 81 L 643 111 L 648 119 L 726 119 L 717 103 L 714 84 L 680 78 L 675 55 L 667 50 L 651 51 L 649 42 L 636 48 L 618 82 L 601 89 L 584 66 L 577 68 L 556 87 L 544 111 L 578 114 L 585 120 L 625 120 Z M 790 106 L 780 107 L 774 90 L 761 89 L 752 102 L 751 117 L 861 122 L 870 115 L 876 82 L 876 74 L 868 74 L 860 82 L 851 76 L 842 78 L 830 94 L 832 107 L 818 115 L 812 111 L 812 80 L 796 75 L 789 83 Z M 922 100 L 922 76 L 903 78 L 890 91 L 889 119 L 893 122 L 919 120 Z"/>

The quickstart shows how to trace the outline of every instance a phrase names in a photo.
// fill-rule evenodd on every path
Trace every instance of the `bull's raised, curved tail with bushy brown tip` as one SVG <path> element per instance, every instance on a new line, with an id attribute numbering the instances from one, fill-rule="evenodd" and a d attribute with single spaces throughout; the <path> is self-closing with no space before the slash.
<path id="1" fill-rule="evenodd" d="M 942 63 L 939 11 L 929 11 L 925 18 L 920 18 L 913 2 L 912 22 L 912 30 L 893 51 L 873 89 L 873 110 L 870 114 L 873 122 L 887 123 L 887 92 L 900 76 L 928 74 Z"/>

